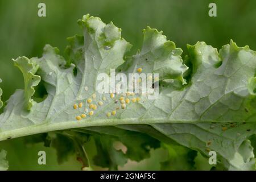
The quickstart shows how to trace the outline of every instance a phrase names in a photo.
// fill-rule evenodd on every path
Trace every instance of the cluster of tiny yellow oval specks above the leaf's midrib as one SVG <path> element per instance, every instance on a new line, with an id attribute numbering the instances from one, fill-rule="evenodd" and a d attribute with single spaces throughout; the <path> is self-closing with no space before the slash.
<path id="1" fill-rule="evenodd" d="M 130 104 L 130 102 L 139 102 L 141 99 L 139 97 L 133 97 L 133 98 L 127 98 L 128 96 L 135 96 L 135 93 L 126 93 L 126 94 L 122 94 L 121 97 L 119 97 L 119 100 L 115 100 L 114 103 L 117 104 L 116 102 L 120 102 L 121 103 L 121 108 L 122 109 L 126 109 L 126 105 L 127 104 Z M 115 98 L 115 94 L 114 93 L 111 93 L 110 94 L 110 98 Z M 88 112 L 88 109 L 85 108 L 85 112 L 87 113 L 88 112 L 88 115 L 89 116 L 92 116 L 94 114 L 94 110 L 97 110 L 98 106 L 102 106 L 104 105 L 104 102 L 102 101 L 106 101 L 106 97 L 102 97 L 102 101 L 99 101 L 97 102 L 97 104 L 92 104 L 92 101 L 93 99 L 96 98 L 96 94 L 92 94 L 92 98 L 88 98 L 88 100 L 86 101 L 88 106 L 89 106 L 89 109 L 91 109 L 89 112 Z M 79 108 L 82 108 L 83 104 L 82 102 L 80 102 L 78 105 L 77 104 L 74 104 L 73 105 L 73 109 L 79 109 Z M 111 111 L 111 112 L 108 112 L 106 113 L 106 116 L 107 117 L 110 117 L 111 115 L 115 115 L 117 113 L 117 110 L 120 109 L 119 106 L 115 107 L 115 110 Z M 80 121 L 82 118 L 86 118 L 86 114 L 83 113 L 81 115 L 77 115 L 76 116 L 76 119 L 77 121 Z"/>

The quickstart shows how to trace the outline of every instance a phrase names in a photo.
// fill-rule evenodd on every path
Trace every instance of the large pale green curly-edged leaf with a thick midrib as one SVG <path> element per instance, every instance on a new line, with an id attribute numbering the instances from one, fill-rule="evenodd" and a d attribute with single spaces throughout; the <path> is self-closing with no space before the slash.
<path id="1" fill-rule="evenodd" d="M 103 135 L 95 137 L 98 151 L 109 155 L 101 165 L 117 169 L 126 163 L 123 155 L 137 161 L 147 158 L 144 144 L 159 147 L 158 139 L 205 156 L 214 150 L 226 169 L 255 169 L 249 137 L 256 134 L 256 53 L 248 46 L 238 47 L 232 40 L 220 51 L 204 42 L 188 45 L 188 68 L 182 50 L 155 29 L 143 30 L 141 51 L 126 57 L 131 45 L 112 22 L 85 15 L 79 24 L 83 35 L 68 38 L 66 60 L 49 45 L 40 58 L 14 60 L 23 73 L 24 90 L 16 90 L 6 102 L 0 115 L 0 140 L 57 130 Z M 98 74 L 109 75 L 110 69 L 116 69 L 128 77 L 138 68 L 159 74 L 156 100 L 148 100 L 145 94 L 115 93 L 112 98 L 97 92 Z M 39 84 L 47 91 L 41 99 L 34 97 Z M 121 109 L 121 96 L 130 101 L 125 109 Z M 90 104 L 97 108 L 90 109 Z M 116 113 L 109 116 L 112 111 Z M 86 117 L 77 121 L 81 114 Z M 127 135 L 140 139 L 133 143 Z M 126 145 L 126 154 L 110 147 L 114 140 Z"/>

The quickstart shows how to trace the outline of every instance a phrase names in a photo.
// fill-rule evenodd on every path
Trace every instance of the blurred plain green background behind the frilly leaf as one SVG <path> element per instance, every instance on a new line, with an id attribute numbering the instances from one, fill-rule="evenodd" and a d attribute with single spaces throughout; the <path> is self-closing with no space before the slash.
<path id="1" fill-rule="evenodd" d="M 38 17 L 38 4 L 46 3 L 46 17 Z M 217 17 L 208 16 L 210 2 L 217 4 Z M 23 88 L 23 77 L 13 66 L 12 58 L 18 56 L 41 56 L 45 44 L 60 49 L 67 45 L 66 38 L 81 34 L 77 19 L 84 14 L 99 16 L 105 23 L 112 21 L 122 28 L 122 36 L 133 44 L 134 53 L 142 44 L 142 29 L 146 26 L 162 30 L 177 47 L 186 51 L 186 44 L 204 41 L 220 49 L 233 39 L 238 46 L 250 46 L 256 50 L 256 1 L 255 0 L 0 0 L 0 84 L 2 100 L 6 101 L 14 90 Z M 183 56 L 184 56 L 183 55 Z M 10 161 L 10 169 L 79 169 L 80 164 L 70 162 L 59 166 L 55 151 L 44 148 L 51 155 L 50 165 L 34 168 L 38 148 L 31 147 L 31 153 L 24 150 L 23 139 L 0 143 L 5 148 Z M 43 150 L 43 149 L 42 149 Z M 152 151 L 153 158 L 146 169 L 159 169 L 159 154 L 164 158 L 166 151 Z M 160 152 L 159 154 L 157 152 Z M 168 153 L 168 152 L 167 152 Z M 167 155 L 167 154 L 166 154 Z M 30 156 L 24 158 L 24 156 Z M 131 164 L 130 168 L 141 169 Z M 143 168 L 143 167 L 142 167 Z"/>

